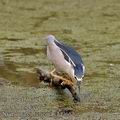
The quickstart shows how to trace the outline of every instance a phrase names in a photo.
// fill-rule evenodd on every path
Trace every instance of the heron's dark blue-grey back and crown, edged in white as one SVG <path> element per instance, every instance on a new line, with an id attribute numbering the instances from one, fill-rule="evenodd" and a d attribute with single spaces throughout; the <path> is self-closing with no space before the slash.
<path id="1" fill-rule="evenodd" d="M 84 76 L 85 67 L 81 56 L 71 47 L 65 45 L 63 42 L 55 40 L 55 44 L 61 49 L 66 61 L 72 64 L 74 67 L 74 73 L 77 77 L 81 78 Z"/>

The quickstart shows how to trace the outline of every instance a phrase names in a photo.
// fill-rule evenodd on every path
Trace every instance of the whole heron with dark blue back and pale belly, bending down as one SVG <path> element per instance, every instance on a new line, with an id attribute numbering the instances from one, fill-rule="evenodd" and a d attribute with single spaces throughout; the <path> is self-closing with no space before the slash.
<path id="1" fill-rule="evenodd" d="M 53 35 L 47 36 L 47 41 L 47 56 L 55 66 L 52 73 L 54 71 L 67 73 L 80 90 L 80 83 L 85 72 L 80 55 L 73 48 L 58 41 Z"/>

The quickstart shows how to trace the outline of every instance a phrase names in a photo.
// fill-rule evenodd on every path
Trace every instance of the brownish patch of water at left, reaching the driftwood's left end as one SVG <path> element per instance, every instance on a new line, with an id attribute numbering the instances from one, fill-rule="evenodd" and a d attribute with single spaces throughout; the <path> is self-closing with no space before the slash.
<path id="1" fill-rule="evenodd" d="M 0 65 L 0 78 L 10 81 L 12 85 L 39 87 L 36 70 L 33 72 L 17 71 L 25 67 L 30 69 L 26 64 L 4 61 L 4 64 Z"/>

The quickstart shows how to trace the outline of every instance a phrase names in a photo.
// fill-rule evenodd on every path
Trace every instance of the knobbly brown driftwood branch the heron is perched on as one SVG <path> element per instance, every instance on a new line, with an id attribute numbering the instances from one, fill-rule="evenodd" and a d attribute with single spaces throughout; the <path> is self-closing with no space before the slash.
<path id="1" fill-rule="evenodd" d="M 42 69 L 37 69 L 37 73 L 38 73 L 39 79 L 41 81 L 44 81 L 46 83 L 50 83 L 54 86 L 61 86 L 62 88 L 67 88 L 70 91 L 70 93 L 72 94 L 74 101 L 78 101 L 78 102 L 80 101 L 80 98 L 77 95 L 73 85 L 61 84 L 63 82 L 63 80 L 59 79 L 59 78 L 55 78 L 55 77 L 53 78 L 51 76 L 50 72 L 48 72 L 48 71 L 45 71 Z"/>

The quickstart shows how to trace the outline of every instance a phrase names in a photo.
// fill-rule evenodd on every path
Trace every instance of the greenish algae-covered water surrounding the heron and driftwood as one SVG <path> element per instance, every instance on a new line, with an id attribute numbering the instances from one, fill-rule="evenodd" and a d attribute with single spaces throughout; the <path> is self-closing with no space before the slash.
<path id="1" fill-rule="evenodd" d="M 22 118 L 23 113 L 30 116 L 32 109 L 25 107 L 31 104 L 35 112 L 39 111 L 33 118 L 119 119 L 119 33 L 119 0 L 1 0 L 0 94 L 7 98 L 0 99 L 0 116 L 5 117 L 5 112 L 10 117 L 7 106 L 17 103 L 16 109 L 22 112 L 10 110 L 15 118 Z M 46 57 L 44 37 L 49 34 L 83 57 L 86 74 L 80 104 L 74 104 L 68 92 L 50 88 L 37 78 L 36 68 L 53 68 Z M 4 81 L 10 82 L 9 86 Z M 17 98 L 25 98 L 23 105 Z"/>

